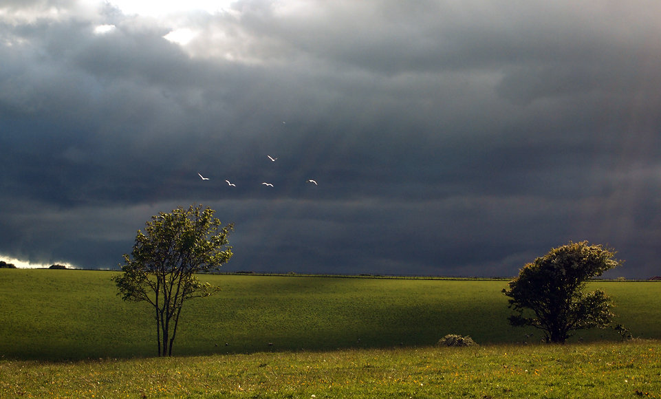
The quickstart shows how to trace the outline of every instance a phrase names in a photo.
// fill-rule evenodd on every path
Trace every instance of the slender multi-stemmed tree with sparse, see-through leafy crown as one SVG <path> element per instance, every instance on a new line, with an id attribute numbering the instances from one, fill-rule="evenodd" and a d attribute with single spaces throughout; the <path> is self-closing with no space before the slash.
<path id="1" fill-rule="evenodd" d="M 216 270 L 232 257 L 227 236 L 233 226 L 221 227 L 214 213 L 193 204 L 151 217 L 144 233 L 138 230 L 131 257 L 124 254 L 124 273 L 113 277 L 124 301 L 153 306 L 158 356 L 172 356 L 184 301 L 219 290 L 195 274 Z"/>

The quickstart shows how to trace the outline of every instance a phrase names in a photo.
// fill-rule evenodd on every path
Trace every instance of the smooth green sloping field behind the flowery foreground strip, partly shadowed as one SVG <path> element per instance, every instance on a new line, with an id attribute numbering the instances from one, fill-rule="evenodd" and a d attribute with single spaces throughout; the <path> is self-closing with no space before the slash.
<path id="1" fill-rule="evenodd" d="M 144 303 L 116 296 L 116 272 L 0 270 L 0 356 L 83 360 L 154 356 Z M 186 303 L 177 356 L 426 347 L 446 334 L 477 343 L 538 342 L 508 325 L 507 281 L 340 277 L 202 276 L 222 288 Z M 598 281 L 634 336 L 661 338 L 661 283 Z M 603 334 L 603 338 L 601 337 Z M 570 342 L 619 337 L 577 332 Z M 360 338 L 360 342 L 358 341 Z M 225 344 L 228 344 L 227 346 Z M 268 343 L 272 343 L 269 346 Z"/>

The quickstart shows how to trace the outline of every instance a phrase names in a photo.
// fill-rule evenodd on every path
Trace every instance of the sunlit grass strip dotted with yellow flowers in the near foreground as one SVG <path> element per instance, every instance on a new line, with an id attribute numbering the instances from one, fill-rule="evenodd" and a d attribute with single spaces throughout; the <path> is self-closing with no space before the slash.
<path id="1" fill-rule="evenodd" d="M 660 398 L 661 343 L 0 361 L 1 398 Z"/>

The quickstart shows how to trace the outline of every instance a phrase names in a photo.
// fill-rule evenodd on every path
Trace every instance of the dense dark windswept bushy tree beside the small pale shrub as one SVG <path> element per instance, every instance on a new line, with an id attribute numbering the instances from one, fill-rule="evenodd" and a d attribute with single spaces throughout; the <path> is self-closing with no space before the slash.
<path id="1" fill-rule="evenodd" d="M 518 312 L 510 324 L 543 330 L 547 343 L 565 343 L 572 331 L 607 327 L 614 316 L 611 299 L 601 290 L 585 292 L 585 286 L 622 264 L 614 256 L 609 248 L 570 241 L 526 264 L 503 290 Z"/>

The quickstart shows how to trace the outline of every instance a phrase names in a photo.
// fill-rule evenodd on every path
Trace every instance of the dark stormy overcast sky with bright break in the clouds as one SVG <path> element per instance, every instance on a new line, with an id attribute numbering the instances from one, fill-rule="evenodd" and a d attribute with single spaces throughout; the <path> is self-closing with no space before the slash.
<path id="1" fill-rule="evenodd" d="M 195 203 L 227 271 L 510 277 L 587 240 L 660 275 L 660 15 L 0 0 L 0 259 L 118 268 Z"/>

